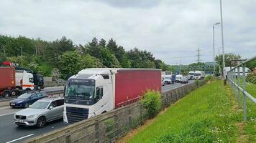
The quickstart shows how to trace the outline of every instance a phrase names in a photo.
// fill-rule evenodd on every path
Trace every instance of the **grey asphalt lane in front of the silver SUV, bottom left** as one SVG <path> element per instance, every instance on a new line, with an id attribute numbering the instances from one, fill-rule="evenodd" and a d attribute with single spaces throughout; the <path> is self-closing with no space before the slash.
<path id="1" fill-rule="evenodd" d="M 13 121 L 14 114 L 0 117 L 0 142 L 22 142 L 26 139 L 37 137 L 55 129 L 67 126 L 67 124 L 64 124 L 63 119 L 49 122 L 42 128 L 18 127 Z"/>

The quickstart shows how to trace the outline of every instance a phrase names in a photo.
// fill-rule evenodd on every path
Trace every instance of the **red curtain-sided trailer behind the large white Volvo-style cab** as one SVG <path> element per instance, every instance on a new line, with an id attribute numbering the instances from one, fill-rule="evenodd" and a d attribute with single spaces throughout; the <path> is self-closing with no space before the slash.
<path id="1" fill-rule="evenodd" d="M 118 69 L 115 79 L 115 108 L 137 102 L 147 90 L 161 92 L 160 69 Z"/>

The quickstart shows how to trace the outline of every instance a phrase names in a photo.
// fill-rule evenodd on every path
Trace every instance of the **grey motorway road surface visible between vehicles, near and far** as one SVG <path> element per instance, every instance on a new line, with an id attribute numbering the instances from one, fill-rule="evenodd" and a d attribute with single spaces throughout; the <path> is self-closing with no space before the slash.
<path id="1" fill-rule="evenodd" d="M 189 81 L 194 82 L 194 81 Z M 185 84 L 175 83 L 175 84 L 165 84 L 162 87 L 162 92 L 166 92 L 177 87 L 181 87 Z M 59 90 L 64 87 L 49 87 L 45 88 L 45 92 L 49 90 Z M 0 102 L 1 104 L 1 102 Z M 67 126 L 63 123 L 63 120 L 60 119 L 55 122 L 48 123 L 45 127 L 36 128 L 36 127 L 17 127 L 13 122 L 13 116 L 15 112 L 18 112 L 21 109 L 12 109 L 11 107 L 0 107 L 0 143 L 4 142 L 22 142 L 26 139 L 36 137 L 47 132 L 51 132 L 55 129 Z"/>

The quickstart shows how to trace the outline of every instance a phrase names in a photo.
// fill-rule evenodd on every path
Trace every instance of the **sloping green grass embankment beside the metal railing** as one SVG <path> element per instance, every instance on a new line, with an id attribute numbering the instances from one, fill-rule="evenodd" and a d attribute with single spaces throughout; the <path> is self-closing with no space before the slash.
<path id="1" fill-rule="evenodd" d="M 256 142 L 255 126 L 255 104 L 248 101 L 244 124 L 232 90 L 216 81 L 158 114 L 127 142 Z"/>

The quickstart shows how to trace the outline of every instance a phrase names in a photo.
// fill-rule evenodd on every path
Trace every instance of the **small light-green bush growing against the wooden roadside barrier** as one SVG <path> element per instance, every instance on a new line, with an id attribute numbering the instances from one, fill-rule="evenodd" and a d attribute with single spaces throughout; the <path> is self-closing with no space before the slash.
<path id="1" fill-rule="evenodd" d="M 150 118 L 155 117 L 161 109 L 161 94 L 156 91 L 146 92 L 144 99 L 141 100 L 143 106 L 147 109 Z"/>

